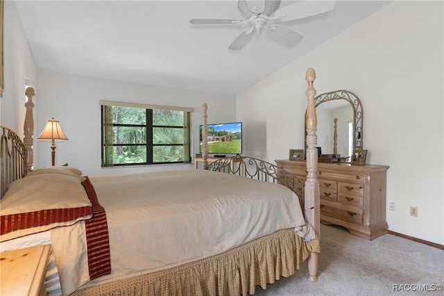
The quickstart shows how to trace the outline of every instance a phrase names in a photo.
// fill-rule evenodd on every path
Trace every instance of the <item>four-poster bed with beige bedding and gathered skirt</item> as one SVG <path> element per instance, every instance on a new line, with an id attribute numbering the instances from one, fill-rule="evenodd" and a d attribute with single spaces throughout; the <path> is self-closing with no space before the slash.
<path id="1" fill-rule="evenodd" d="M 51 244 L 45 283 L 51 295 L 247 295 L 289 277 L 304 261 L 316 281 L 314 79 L 308 69 L 303 197 L 280 184 L 271 163 L 240 156 L 208 164 L 205 141 L 205 170 L 125 176 L 84 176 L 68 166 L 29 170 L 27 108 L 23 142 L 1 128 L 1 251 Z M 32 103 L 32 92 L 27 96 Z"/>

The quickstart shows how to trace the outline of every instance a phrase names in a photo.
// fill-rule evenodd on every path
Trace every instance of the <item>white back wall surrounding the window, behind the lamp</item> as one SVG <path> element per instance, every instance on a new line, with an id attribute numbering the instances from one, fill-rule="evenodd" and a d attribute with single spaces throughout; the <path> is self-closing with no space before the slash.
<path id="1" fill-rule="evenodd" d="M 153 170 L 189 169 L 189 164 L 151 165 L 137 167 L 101 167 L 101 108 L 99 100 L 182 106 L 194 108 L 192 117 L 193 142 L 199 143 L 202 124 L 202 104 L 208 104 L 208 123 L 235 120 L 235 97 L 192 90 L 162 88 L 105 79 L 94 79 L 54 72 L 38 72 L 38 115 L 35 122 L 37 136 L 46 120 L 60 121 L 68 141 L 56 141 L 56 165 L 69 163 L 84 174 L 130 174 Z M 36 104 L 36 106 L 37 106 Z M 37 136 L 35 138 L 37 138 Z M 40 152 L 35 167 L 51 165 L 51 143 L 37 140 Z M 198 153 L 194 145 L 191 155 Z"/>

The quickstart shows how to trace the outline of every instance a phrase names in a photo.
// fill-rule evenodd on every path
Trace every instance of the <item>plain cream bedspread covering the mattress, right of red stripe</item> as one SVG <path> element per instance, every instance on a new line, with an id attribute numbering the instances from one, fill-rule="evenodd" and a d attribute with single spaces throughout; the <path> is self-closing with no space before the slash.
<path id="1" fill-rule="evenodd" d="M 94 286 L 196 261 L 305 225 L 288 188 L 207 170 L 89 176 L 105 208 L 112 273 Z"/>

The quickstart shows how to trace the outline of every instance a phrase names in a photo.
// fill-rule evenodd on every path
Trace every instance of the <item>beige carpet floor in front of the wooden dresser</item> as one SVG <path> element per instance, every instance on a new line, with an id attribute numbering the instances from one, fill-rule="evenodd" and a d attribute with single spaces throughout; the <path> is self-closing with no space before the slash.
<path id="1" fill-rule="evenodd" d="M 255 295 L 444 295 L 444 251 L 391 234 L 375 240 L 321 225 L 318 281 L 296 274 Z M 441 290 L 440 290 L 441 289 Z"/>

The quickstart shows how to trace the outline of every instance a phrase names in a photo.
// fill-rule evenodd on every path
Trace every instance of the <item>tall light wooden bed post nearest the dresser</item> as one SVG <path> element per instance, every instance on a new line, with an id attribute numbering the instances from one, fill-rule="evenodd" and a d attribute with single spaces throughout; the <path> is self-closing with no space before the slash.
<path id="1" fill-rule="evenodd" d="M 316 136 L 316 107 L 314 106 L 314 97 L 316 90 L 313 88 L 313 82 L 316 79 L 314 69 L 307 69 L 305 80 L 308 83 L 307 92 L 307 180 L 305 181 L 305 220 L 314 228 L 316 236 L 321 240 L 321 209 L 319 200 L 318 183 L 318 149 Z M 310 281 L 317 281 L 316 275 L 318 269 L 318 253 L 310 253 L 308 258 L 308 272 Z"/>

